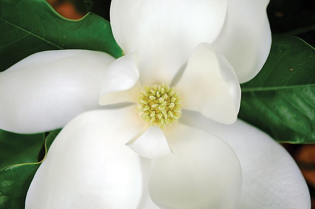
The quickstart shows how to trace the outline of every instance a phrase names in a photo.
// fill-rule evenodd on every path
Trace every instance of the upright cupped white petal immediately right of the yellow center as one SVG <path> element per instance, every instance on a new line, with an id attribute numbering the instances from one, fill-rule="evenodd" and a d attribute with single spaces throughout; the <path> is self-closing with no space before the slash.
<path id="1" fill-rule="evenodd" d="M 230 63 L 209 44 L 196 47 L 176 85 L 182 107 L 226 124 L 237 119 L 241 89 Z"/>

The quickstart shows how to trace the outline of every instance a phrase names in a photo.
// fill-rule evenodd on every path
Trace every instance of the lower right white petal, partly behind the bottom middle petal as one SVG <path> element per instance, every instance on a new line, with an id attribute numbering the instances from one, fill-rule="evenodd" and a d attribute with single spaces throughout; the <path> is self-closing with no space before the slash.
<path id="1" fill-rule="evenodd" d="M 310 208 L 309 192 L 298 166 L 267 134 L 241 120 L 224 125 L 187 111 L 181 119 L 225 140 L 235 151 L 243 175 L 238 209 Z"/>

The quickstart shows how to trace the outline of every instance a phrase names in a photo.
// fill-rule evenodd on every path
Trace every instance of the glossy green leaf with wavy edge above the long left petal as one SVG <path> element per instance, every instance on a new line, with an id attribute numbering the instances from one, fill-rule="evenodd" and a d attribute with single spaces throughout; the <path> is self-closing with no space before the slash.
<path id="1" fill-rule="evenodd" d="M 69 20 L 45 0 L 0 0 L 0 71 L 46 50 L 85 49 L 122 56 L 110 24 L 88 13 Z"/>

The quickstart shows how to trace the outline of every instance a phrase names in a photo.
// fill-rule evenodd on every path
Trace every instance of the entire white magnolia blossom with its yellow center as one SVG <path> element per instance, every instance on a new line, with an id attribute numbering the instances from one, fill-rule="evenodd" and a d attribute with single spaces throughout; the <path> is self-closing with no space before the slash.
<path id="1" fill-rule="evenodd" d="M 309 208 L 290 155 L 235 122 L 269 53 L 267 4 L 114 0 L 125 56 L 47 51 L 2 72 L 0 128 L 68 123 L 26 208 Z"/>

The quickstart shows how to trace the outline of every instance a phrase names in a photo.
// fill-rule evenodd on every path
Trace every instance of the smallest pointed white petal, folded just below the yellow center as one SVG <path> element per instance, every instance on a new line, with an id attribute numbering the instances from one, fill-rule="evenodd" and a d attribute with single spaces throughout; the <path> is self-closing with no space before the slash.
<path id="1" fill-rule="evenodd" d="M 146 158 L 156 158 L 172 154 L 163 131 L 156 126 L 151 126 L 145 132 L 135 137 L 126 144 L 137 154 Z"/>

